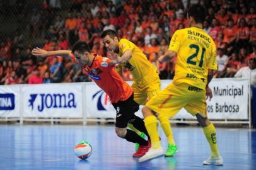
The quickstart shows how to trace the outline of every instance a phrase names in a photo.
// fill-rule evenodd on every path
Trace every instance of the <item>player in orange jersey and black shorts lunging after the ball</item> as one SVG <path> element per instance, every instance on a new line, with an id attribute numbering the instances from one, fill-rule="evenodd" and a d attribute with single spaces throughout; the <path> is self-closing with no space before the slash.
<path id="1" fill-rule="evenodd" d="M 145 133 L 149 139 L 143 120 L 134 115 L 134 113 L 139 110 L 139 105 L 134 101 L 133 90 L 131 86 L 119 76 L 115 70 L 115 65 L 110 64 L 110 59 L 91 54 L 91 49 L 85 42 L 77 42 L 72 51 L 45 51 L 41 48 L 34 48 L 32 54 L 42 56 L 68 56 L 78 62 L 88 76 L 90 76 L 110 97 L 110 101 L 117 111 L 115 123 L 115 132 L 117 135 L 129 142 L 138 143 L 143 147 L 144 153 L 148 151 L 151 144 L 137 135 L 136 132 L 127 129 L 127 123 L 131 123 L 137 130 Z"/>

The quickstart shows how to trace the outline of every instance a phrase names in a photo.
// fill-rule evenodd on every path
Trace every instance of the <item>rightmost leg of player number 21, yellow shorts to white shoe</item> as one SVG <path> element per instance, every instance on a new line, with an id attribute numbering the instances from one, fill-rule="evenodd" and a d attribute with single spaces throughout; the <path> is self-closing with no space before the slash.
<path id="1" fill-rule="evenodd" d="M 188 91 L 187 94 L 190 96 L 191 99 L 187 106 L 184 108 L 191 113 L 192 115 L 196 116 L 197 121 L 202 126 L 204 135 L 206 136 L 207 142 L 211 147 L 211 156 L 209 159 L 203 162 L 203 164 L 215 164 L 215 165 L 223 165 L 223 159 L 219 155 L 218 145 L 217 145 L 217 138 L 216 138 L 216 129 L 214 125 L 209 121 L 207 118 L 207 111 L 206 111 L 206 96 L 205 91 Z"/>

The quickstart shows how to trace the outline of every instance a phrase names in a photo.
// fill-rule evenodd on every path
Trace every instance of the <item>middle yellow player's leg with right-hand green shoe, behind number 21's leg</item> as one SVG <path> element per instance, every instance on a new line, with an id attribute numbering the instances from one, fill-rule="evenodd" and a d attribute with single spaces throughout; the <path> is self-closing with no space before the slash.
<path id="1" fill-rule="evenodd" d="M 156 96 L 158 93 L 160 93 L 160 87 L 161 87 L 160 82 L 148 87 L 147 94 L 148 94 L 149 100 L 154 98 L 154 96 Z M 156 115 L 158 114 L 156 113 Z M 166 150 L 165 156 L 172 157 L 175 155 L 176 152 L 178 152 L 178 148 L 173 139 L 172 126 L 170 124 L 169 117 L 164 114 L 161 114 L 161 115 L 158 115 L 158 120 L 160 121 L 161 127 L 163 128 L 163 131 L 165 132 L 166 137 L 168 139 L 168 149 Z"/>

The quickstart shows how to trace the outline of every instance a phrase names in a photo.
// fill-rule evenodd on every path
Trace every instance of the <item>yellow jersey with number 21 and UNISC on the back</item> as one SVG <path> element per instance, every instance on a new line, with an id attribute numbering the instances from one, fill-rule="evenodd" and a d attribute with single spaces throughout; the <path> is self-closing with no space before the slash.
<path id="1" fill-rule="evenodd" d="M 186 82 L 205 89 L 208 69 L 216 70 L 216 45 L 201 28 L 190 27 L 173 34 L 169 50 L 177 52 L 173 84 Z"/>

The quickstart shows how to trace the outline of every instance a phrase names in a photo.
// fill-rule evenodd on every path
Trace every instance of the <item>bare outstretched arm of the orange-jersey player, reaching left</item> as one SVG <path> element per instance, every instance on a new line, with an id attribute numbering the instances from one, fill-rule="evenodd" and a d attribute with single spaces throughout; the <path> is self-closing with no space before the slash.
<path id="1" fill-rule="evenodd" d="M 42 48 L 33 48 L 32 54 L 36 56 L 62 56 L 62 57 L 71 57 L 72 51 L 71 50 L 56 50 L 56 51 L 47 51 L 43 50 Z"/>

